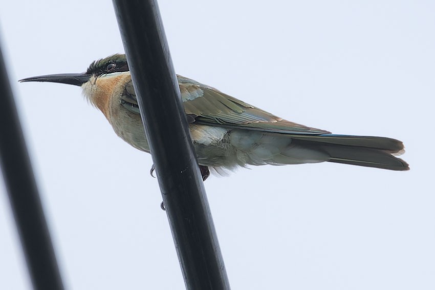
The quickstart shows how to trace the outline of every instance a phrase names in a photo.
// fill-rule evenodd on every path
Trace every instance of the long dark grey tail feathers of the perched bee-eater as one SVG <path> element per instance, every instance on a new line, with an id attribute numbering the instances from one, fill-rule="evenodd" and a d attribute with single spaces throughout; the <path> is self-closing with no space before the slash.
<path id="1" fill-rule="evenodd" d="M 292 135 L 291 138 L 293 144 L 328 153 L 329 162 L 397 171 L 409 170 L 408 163 L 394 156 L 405 152 L 403 143 L 396 139 L 335 134 Z"/>

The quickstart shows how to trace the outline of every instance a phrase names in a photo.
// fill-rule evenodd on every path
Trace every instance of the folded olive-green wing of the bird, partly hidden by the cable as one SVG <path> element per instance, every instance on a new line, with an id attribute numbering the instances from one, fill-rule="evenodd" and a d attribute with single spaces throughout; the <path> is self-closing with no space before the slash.
<path id="1" fill-rule="evenodd" d="M 184 111 L 189 122 L 285 134 L 328 134 L 330 132 L 284 120 L 212 87 L 177 75 Z M 133 84 L 122 95 L 123 105 L 139 113 Z"/>

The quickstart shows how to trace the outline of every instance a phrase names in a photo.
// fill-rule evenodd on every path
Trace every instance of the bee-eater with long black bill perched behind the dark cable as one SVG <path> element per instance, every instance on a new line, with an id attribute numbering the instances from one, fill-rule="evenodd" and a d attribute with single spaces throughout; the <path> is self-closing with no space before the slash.
<path id="1" fill-rule="evenodd" d="M 181 75 L 177 79 L 203 180 L 210 169 L 223 175 L 238 167 L 265 164 L 336 162 L 409 170 L 409 165 L 396 157 L 404 153 L 399 140 L 332 134 L 285 120 L 193 79 Z M 84 73 L 19 81 L 81 87 L 85 98 L 104 114 L 119 137 L 150 153 L 125 54 L 95 60 Z"/>

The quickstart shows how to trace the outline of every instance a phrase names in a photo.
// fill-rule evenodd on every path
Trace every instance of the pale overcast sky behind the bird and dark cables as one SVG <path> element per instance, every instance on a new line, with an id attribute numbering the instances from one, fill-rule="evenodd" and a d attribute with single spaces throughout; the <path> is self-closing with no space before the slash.
<path id="1" fill-rule="evenodd" d="M 159 2 L 178 74 L 304 125 L 404 141 L 408 172 L 322 163 L 205 182 L 233 289 L 434 289 L 433 1 Z M 149 155 L 78 87 L 123 52 L 109 1 L 7 1 L 0 35 L 67 289 L 183 289 Z M 0 181 L 0 288 L 28 289 Z"/>

